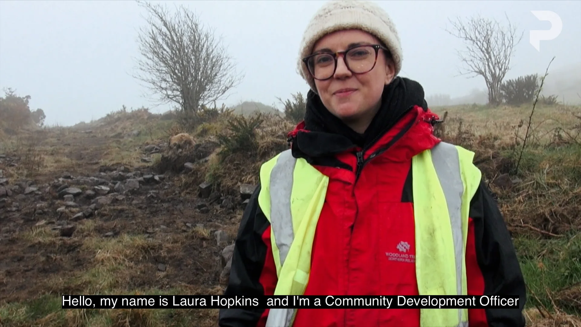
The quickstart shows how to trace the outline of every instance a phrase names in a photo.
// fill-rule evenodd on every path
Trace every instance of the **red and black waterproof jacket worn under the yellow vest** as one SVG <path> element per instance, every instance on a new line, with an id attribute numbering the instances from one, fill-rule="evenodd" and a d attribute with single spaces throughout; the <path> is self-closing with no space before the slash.
<path id="1" fill-rule="evenodd" d="M 339 141 L 300 123 L 290 133 L 293 155 L 329 176 L 327 198 L 315 232 L 305 295 L 417 295 L 414 262 L 388 260 L 400 242 L 415 254 L 411 158 L 440 140 L 437 116 L 414 105 L 363 150 L 340 151 Z M 321 155 L 321 152 L 332 155 Z M 336 153 L 335 153 L 336 152 Z M 277 273 L 270 225 L 257 202 L 257 187 L 243 215 L 225 295 L 272 295 Z M 466 269 L 468 294 L 520 296 L 525 284 L 503 218 L 484 184 L 471 201 Z M 447 278 L 447 276 L 434 276 Z M 264 326 L 268 309 L 220 311 L 220 326 Z M 469 326 L 524 326 L 521 309 L 469 310 Z M 299 309 L 293 326 L 419 326 L 419 309 Z"/>

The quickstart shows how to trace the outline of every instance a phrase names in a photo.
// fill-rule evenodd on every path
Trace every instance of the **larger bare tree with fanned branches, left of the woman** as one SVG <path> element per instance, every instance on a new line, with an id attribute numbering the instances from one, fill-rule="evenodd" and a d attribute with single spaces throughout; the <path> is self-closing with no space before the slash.
<path id="1" fill-rule="evenodd" d="M 137 2 L 149 17 L 138 36 L 142 58 L 134 77 L 148 84 L 160 103 L 173 102 L 185 113 L 196 112 L 238 86 L 243 74 L 235 72 L 221 41 L 199 17 L 184 6 L 171 15 L 160 4 Z"/>

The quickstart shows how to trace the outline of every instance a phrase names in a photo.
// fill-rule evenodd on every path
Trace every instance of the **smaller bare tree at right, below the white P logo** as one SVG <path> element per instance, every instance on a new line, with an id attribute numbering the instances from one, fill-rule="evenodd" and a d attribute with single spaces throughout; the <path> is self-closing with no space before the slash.
<path id="1" fill-rule="evenodd" d="M 507 17 L 508 20 L 508 17 Z M 501 26 L 496 20 L 480 16 L 462 22 L 458 17 L 450 23 L 453 29 L 446 30 L 466 44 L 464 51 L 458 51 L 462 61 L 462 75 L 482 76 L 488 89 L 488 102 L 498 105 L 502 102 L 500 86 L 510 69 L 510 61 L 515 46 L 522 40 L 517 29 L 508 20 L 508 27 Z"/>

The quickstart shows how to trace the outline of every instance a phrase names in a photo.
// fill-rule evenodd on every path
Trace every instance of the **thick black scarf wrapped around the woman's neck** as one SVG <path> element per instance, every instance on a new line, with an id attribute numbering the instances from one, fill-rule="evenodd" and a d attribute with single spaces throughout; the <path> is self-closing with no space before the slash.
<path id="1" fill-rule="evenodd" d="M 338 148 L 353 145 L 368 148 L 391 129 L 414 105 L 427 108 L 424 88 L 417 81 L 406 77 L 396 77 L 392 83 L 383 88 L 381 106 L 365 133 L 360 134 L 329 112 L 322 104 L 321 98 L 309 90 L 304 116 L 305 129 L 323 134 L 333 134 L 324 137 L 332 137 L 333 143 L 335 143 L 333 145 Z"/>

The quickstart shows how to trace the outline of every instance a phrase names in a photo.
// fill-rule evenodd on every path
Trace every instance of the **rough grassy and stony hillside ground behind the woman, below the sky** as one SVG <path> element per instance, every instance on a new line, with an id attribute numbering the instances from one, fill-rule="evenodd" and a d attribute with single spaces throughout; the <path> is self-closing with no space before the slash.
<path id="1" fill-rule="evenodd" d="M 539 106 L 528 133 L 526 106 L 433 110 L 497 198 L 528 325 L 581 326 L 581 107 Z M 221 294 L 245 190 L 293 123 L 221 113 L 184 126 L 143 110 L 101 122 L 0 141 L 0 326 L 216 326 L 217 310 L 62 310 L 59 294 Z M 180 132 L 192 138 L 170 142 Z"/>

